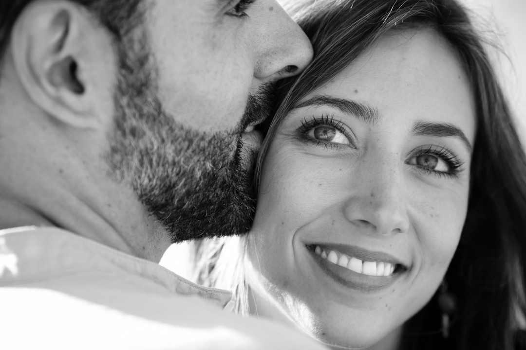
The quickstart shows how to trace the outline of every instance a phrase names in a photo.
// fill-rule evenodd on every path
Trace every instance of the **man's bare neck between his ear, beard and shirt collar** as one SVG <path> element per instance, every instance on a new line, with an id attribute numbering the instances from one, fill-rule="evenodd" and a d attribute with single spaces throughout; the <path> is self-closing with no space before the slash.
<path id="1" fill-rule="evenodd" d="M 2 63 L 0 228 L 59 227 L 158 262 L 168 235 L 133 190 L 108 175 L 105 129 L 50 115 L 23 87 L 12 56 Z"/>

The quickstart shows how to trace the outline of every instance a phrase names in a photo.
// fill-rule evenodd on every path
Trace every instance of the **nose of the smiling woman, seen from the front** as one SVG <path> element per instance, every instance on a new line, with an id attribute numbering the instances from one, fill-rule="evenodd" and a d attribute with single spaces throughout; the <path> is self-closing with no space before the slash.
<path id="1" fill-rule="evenodd" d="M 376 165 L 366 165 L 355 176 L 354 190 L 344 208 L 345 217 L 366 232 L 380 235 L 407 232 L 408 193 L 402 169 L 387 162 L 376 162 Z"/>

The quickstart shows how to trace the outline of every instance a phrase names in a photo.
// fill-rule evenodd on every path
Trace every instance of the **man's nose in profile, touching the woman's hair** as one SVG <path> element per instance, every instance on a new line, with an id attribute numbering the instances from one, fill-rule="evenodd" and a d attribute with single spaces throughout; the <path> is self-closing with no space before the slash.
<path id="1" fill-rule="evenodd" d="M 256 48 L 254 75 L 264 81 L 276 81 L 297 75 L 312 60 L 312 45 L 301 28 L 276 2 L 265 6 L 265 15 L 257 21 L 265 21 L 256 31 L 255 39 L 260 43 Z"/>

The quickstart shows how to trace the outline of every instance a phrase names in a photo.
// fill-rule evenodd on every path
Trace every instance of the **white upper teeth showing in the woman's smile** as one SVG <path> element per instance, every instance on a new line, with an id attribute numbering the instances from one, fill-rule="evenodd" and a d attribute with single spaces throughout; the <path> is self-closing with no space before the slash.
<path id="1" fill-rule="evenodd" d="M 327 251 L 329 253 L 327 253 Z M 321 258 L 332 262 L 333 264 L 345 267 L 351 271 L 366 274 L 369 276 L 390 276 L 395 271 L 395 265 L 383 261 L 363 261 L 336 250 L 325 250 L 316 246 L 314 252 Z"/>

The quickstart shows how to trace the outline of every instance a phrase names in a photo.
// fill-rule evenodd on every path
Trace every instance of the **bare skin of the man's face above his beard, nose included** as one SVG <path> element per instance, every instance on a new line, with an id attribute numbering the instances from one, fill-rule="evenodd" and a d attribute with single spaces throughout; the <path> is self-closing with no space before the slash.
<path id="1" fill-rule="evenodd" d="M 248 3 L 243 16 L 239 0 L 153 2 L 147 23 L 159 98 L 179 122 L 234 128 L 249 93 L 310 60 L 307 37 L 275 0 Z"/>

